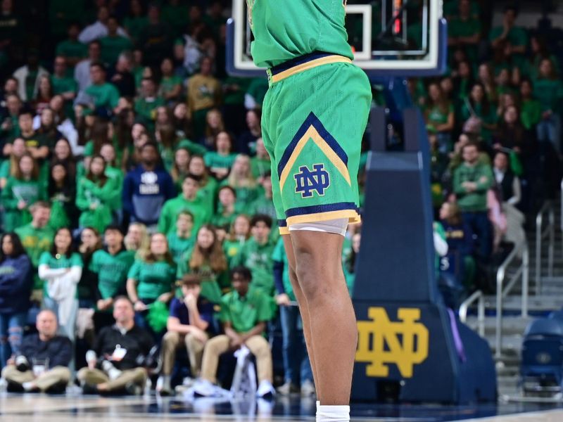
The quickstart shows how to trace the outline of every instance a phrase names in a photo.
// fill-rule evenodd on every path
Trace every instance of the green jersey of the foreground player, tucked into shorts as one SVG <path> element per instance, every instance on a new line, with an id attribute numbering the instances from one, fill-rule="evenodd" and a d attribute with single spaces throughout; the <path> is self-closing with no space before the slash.
<path id="1" fill-rule="evenodd" d="M 255 41 L 251 52 L 261 68 L 315 51 L 353 58 L 344 27 L 343 1 L 247 0 Z M 275 16 L 275 18 L 272 18 Z"/>

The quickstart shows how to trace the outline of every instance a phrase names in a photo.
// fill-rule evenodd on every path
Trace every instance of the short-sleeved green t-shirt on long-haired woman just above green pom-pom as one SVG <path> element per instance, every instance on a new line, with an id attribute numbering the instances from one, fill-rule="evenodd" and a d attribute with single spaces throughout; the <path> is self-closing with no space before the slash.
<path id="1" fill-rule="evenodd" d="M 137 295 L 140 299 L 155 300 L 163 293 L 172 291 L 175 276 L 176 264 L 135 260 L 127 279 L 134 279 L 137 283 Z"/>

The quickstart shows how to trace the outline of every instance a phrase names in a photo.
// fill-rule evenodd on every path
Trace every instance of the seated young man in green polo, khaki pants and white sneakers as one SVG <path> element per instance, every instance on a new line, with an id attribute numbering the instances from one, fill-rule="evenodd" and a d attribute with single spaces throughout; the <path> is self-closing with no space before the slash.
<path id="1" fill-rule="evenodd" d="M 251 287 L 252 274 L 246 267 L 231 271 L 233 291 L 221 300 L 220 319 L 224 334 L 208 340 L 203 351 L 201 380 L 194 389 L 202 396 L 213 394 L 217 383 L 219 357 L 229 350 L 247 347 L 256 358 L 258 370 L 258 397 L 274 395 L 272 352 L 264 338 L 267 322 L 272 319 L 270 298 L 260 289 Z"/>

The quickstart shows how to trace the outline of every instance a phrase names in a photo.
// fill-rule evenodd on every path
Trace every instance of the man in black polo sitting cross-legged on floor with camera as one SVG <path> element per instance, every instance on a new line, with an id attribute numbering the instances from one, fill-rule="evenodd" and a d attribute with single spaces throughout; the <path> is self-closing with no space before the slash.
<path id="1" fill-rule="evenodd" d="M 151 353 L 153 339 L 143 328 L 135 326 L 134 316 L 129 299 L 115 299 L 115 325 L 102 328 L 94 349 L 86 354 L 88 367 L 77 373 L 84 394 L 143 392 L 147 372 L 139 362 Z"/>

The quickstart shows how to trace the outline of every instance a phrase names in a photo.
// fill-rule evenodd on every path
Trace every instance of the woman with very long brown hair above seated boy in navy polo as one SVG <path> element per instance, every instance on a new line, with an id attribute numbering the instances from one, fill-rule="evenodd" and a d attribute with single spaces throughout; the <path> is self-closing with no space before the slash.
<path id="1" fill-rule="evenodd" d="M 227 257 L 215 228 L 205 224 L 198 230 L 194 248 L 182 256 L 176 279 L 182 280 L 184 274 L 198 274 L 201 276 L 201 296 L 219 303 L 222 288 L 227 290 L 230 287 L 228 269 Z"/>

